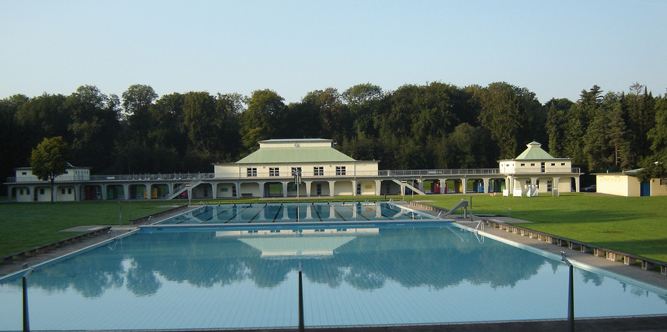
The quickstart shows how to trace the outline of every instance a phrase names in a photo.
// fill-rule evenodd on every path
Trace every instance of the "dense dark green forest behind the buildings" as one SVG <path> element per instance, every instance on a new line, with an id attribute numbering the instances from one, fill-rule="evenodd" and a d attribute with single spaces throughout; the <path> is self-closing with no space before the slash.
<path id="1" fill-rule="evenodd" d="M 394 91 L 359 84 L 289 104 L 272 90 L 158 96 L 132 85 L 118 97 L 86 85 L 70 95 L 2 99 L 0 128 L 2 176 L 28 165 L 31 150 L 53 136 L 67 142 L 72 164 L 96 174 L 211 172 L 212 163 L 235 161 L 259 140 L 306 137 L 332 138 L 384 169 L 496 167 L 532 140 L 588 172 L 667 162 L 667 96 L 641 84 L 606 93 L 593 86 L 577 101 L 545 104 L 504 82 Z"/>

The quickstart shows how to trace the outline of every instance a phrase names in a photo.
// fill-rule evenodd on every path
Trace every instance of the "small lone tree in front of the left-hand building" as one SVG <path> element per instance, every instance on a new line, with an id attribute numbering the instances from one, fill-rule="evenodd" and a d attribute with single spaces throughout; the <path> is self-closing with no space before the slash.
<path id="1" fill-rule="evenodd" d="M 45 138 L 32 150 L 30 166 L 32 173 L 40 180 L 51 182 L 51 203 L 53 203 L 56 176 L 65 173 L 67 146 L 62 137 Z"/>

